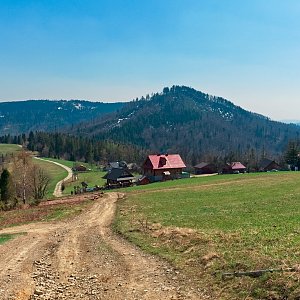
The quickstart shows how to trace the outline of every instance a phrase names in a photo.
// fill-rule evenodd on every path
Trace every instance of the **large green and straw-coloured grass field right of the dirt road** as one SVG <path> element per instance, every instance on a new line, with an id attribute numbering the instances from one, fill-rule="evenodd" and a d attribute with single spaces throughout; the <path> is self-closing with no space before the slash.
<path id="1" fill-rule="evenodd" d="M 214 299 L 300 296 L 296 272 L 221 278 L 300 263 L 300 173 L 218 175 L 126 191 L 116 230 L 167 258 Z"/>

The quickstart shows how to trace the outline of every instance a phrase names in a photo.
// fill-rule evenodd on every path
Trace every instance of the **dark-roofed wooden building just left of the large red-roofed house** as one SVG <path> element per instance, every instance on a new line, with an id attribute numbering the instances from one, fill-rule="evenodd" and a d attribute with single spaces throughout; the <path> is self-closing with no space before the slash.
<path id="1" fill-rule="evenodd" d="M 135 177 L 126 168 L 111 169 L 103 178 L 108 187 L 130 186 L 135 181 Z"/>

